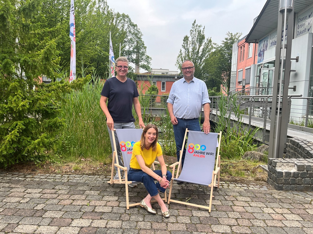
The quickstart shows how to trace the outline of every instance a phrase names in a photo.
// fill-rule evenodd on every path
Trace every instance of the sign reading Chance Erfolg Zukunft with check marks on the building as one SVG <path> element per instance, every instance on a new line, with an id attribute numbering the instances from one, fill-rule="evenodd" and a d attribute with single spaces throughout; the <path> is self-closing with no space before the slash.
<path id="1" fill-rule="evenodd" d="M 296 37 L 301 37 L 312 32 L 313 25 L 313 7 L 303 12 L 297 17 Z"/>

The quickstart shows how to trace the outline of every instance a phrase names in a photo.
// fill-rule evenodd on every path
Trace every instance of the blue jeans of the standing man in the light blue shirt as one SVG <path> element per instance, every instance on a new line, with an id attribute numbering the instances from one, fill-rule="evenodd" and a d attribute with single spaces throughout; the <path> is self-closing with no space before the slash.
<path id="1" fill-rule="evenodd" d="M 177 118 L 177 121 L 178 121 L 178 124 L 173 125 L 173 130 L 174 130 L 174 136 L 175 136 L 176 155 L 177 155 L 177 162 L 178 162 L 180 158 L 179 151 L 182 150 L 182 143 L 184 141 L 186 128 L 188 130 L 199 131 L 199 132 L 201 132 L 201 128 L 200 128 L 198 118 L 196 119 Z M 186 144 L 187 142 L 185 142 L 185 146 L 184 146 L 183 153 L 182 153 L 182 167 L 184 166 L 184 161 L 185 161 Z"/>

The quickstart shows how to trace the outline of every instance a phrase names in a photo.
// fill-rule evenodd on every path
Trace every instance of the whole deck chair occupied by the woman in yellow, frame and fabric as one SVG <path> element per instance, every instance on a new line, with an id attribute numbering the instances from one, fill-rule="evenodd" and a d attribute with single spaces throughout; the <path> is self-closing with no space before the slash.
<path id="1" fill-rule="evenodd" d="M 121 147 L 121 154 L 123 157 L 123 162 L 124 162 L 124 167 L 121 166 L 118 162 L 117 158 L 117 148 L 116 148 L 116 142 L 115 142 L 115 137 L 114 137 L 114 131 L 116 131 L 117 138 L 118 138 L 118 143 L 120 144 Z M 126 208 L 127 210 L 129 207 L 132 206 L 137 206 L 140 204 L 138 203 L 133 203 L 129 204 L 129 197 L 128 197 L 128 184 L 136 184 L 136 183 L 141 183 L 138 181 L 128 181 L 127 179 L 127 171 L 129 169 L 129 164 L 131 162 L 131 155 L 132 155 L 132 150 L 133 150 L 133 145 L 140 140 L 141 134 L 142 134 L 142 129 L 113 129 L 112 130 L 112 136 L 113 136 L 113 145 L 114 145 L 114 151 L 113 151 L 113 160 L 112 160 L 112 168 L 111 168 L 111 178 L 108 181 L 110 184 L 125 184 L 125 193 L 126 193 Z M 114 163 L 116 162 L 116 163 Z M 159 162 L 154 161 L 154 163 L 159 164 Z M 152 164 L 152 169 L 155 170 L 154 163 Z M 118 179 L 114 179 L 114 166 L 118 168 Z M 168 166 L 168 165 L 166 165 Z M 124 177 L 122 178 L 122 174 L 119 169 L 122 169 L 124 171 Z M 167 202 L 167 197 L 166 193 L 164 193 L 164 198 L 162 199 L 165 202 Z M 151 202 L 156 202 L 155 200 L 152 200 Z"/>

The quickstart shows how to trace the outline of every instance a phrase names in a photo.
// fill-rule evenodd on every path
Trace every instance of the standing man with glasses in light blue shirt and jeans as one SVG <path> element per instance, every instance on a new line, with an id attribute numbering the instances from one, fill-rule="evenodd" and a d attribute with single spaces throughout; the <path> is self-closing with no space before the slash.
<path id="1" fill-rule="evenodd" d="M 182 63 L 182 74 L 184 78 L 177 80 L 171 88 L 167 99 L 167 109 L 173 124 L 176 142 L 177 161 L 179 151 L 182 150 L 182 143 L 186 128 L 192 131 L 201 131 L 199 116 L 202 106 L 204 111 L 203 131 L 210 132 L 210 99 L 208 89 L 203 80 L 193 76 L 195 71 L 191 60 Z M 182 154 L 182 166 L 184 165 L 186 148 Z"/>

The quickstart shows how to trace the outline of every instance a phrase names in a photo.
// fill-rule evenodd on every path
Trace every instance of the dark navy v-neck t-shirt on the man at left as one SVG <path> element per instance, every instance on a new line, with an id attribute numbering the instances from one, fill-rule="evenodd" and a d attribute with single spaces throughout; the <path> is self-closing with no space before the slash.
<path id="1" fill-rule="evenodd" d="M 123 83 L 114 76 L 105 81 L 101 95 L 108 98 L 108 110 L 114 122 L 135 122 L 131 112 L 133 98 L 139 96 L 135 81 L 127 78 Z"/>

